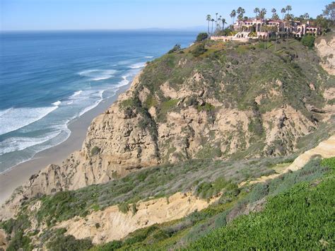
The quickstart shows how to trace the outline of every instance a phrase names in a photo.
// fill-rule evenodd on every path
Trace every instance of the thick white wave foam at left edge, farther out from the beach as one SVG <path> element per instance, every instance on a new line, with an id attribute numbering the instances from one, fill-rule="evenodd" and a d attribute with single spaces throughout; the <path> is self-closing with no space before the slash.
<path id="1" fill-rule="evenodd" d="M 52 107 L 22 107 L 0 111 L 0 135 L 16 131 L 47 116 L 58 108 Z"/>

